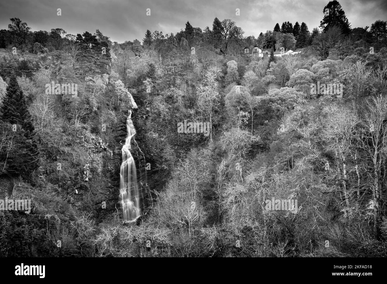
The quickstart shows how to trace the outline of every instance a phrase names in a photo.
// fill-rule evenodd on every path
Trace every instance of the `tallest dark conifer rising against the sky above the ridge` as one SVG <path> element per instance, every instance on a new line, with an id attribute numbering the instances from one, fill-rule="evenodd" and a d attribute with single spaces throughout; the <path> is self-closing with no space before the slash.
<path id="1" fill-rule="evenodd" d="M 324 18 L 320 22 L 320 28 L 326 32 L 333 26 L 338 26 L 342 34 L 347 35 L 351 32 L 351 26 L 338 1 L 330 1 L 322 10 Z"/>

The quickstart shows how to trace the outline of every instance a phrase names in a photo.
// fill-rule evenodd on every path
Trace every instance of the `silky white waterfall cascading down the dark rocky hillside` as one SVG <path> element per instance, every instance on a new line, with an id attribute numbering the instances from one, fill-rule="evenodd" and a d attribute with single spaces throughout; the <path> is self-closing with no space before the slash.
<path id="1" fill-rule="evenodd" d="M 131 97 L 131 96 L 130 96 Z M 133 99 L 132 99 L 133 101 Z M 137 105 L 132 103 L 132 107 Z M 130 142 L 136 134 L 132 121 L 132 111 L 128 111 L 126 120 L 127 138 L 122 146 L 122 164 L 120 170 L 120 203 L 122 221 L 124 223 L 134 222 L 141 214 L 139 187 L 137 185 L 137 173 L 134 158 L 130 153 Z"/>

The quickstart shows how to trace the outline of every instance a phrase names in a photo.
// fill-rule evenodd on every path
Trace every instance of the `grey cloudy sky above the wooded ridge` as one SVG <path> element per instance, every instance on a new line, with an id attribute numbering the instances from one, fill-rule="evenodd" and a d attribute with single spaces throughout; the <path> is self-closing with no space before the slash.
<path id="1" fill-rule="evenodd" d="M 0 0 L 0 29 L 7 29 L 9 19 L 20 18 L 32 31 L 60 27 L 69 34 L 92 34 L 99 29 L 112 41 L 139 39 L 144 33 L 163 34 L 185 28 L 187 20 L 194 27 L 212 27 L 215 17 L 234 20 L 245 36 L 257 37 L 273 29 L 278 22 L 306 22 L 309 31 L 318 27 L 322 10 L 329 0 Z M 352 27 L 371 26 L 375 20 L 387 20 L 385 0 L 340 0 Z M 57 9 L 62 15 L 57 15 Z M 146 9 L 151 15 L 146 15 Z M 235 9 L 240 15 L 235 15 Z"/>

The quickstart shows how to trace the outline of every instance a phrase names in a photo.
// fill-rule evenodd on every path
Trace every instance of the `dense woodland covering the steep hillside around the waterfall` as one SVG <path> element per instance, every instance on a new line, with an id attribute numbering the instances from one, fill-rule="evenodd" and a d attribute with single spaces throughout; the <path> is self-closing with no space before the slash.
<path id="1" fill-rule="evenodd" d="M 258 37 L 215 18 L 125 43 L 10 19 L 0 198 L 32 211 L 0 211 L 0 254 L 387 256 L 386 21 L 351 27 L 337 1 L 315 15 L 320 27 L 273 23 Z M 318 81 L 342 83 L 342 97 L 311 94 Z M 46 94 L 51 82 L 78 94 Z M 130 225 L 118 203 L 128 92 L 143 206 Z M 211 122 L 210 135 L 178 133 L 184 120 Z M 265 210 L 272 197 L 298 212 Z"/>

